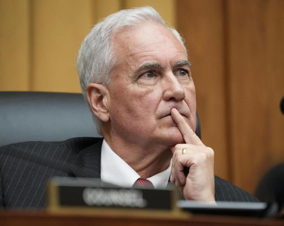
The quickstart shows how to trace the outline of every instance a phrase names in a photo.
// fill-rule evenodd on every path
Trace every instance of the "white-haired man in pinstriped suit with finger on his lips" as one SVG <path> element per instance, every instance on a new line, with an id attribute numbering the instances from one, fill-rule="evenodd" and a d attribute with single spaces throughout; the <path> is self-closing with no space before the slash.
<path id="1" fill-rule="evenodd" d="M 99 22 L 82 43 L 77 69 L 104 138 L 5 149 L 64 159 L 76 176 L 119 186 L 164 188 L 170 181 L 188 200 L 257 201 L 214 177 L 214 152 L 194 133 L 195 87 L 183 39 L 153 8 L 122 10 Z M 3 206 L 43 207 L 46 180 L 68 175 L 25 161 L 17 162 L 20 172 L 13 174 L 8 166 L 15 161 L 1 159 Z"/>

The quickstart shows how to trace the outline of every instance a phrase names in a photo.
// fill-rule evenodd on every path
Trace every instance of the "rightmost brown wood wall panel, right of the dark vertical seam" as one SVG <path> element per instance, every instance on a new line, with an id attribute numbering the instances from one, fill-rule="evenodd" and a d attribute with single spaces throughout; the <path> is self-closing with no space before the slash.
<path id="1" fill-rule="evenodd" d="M 253 192 L 284 161 L 284 2 L 229 1 L 233 182 Z"/>

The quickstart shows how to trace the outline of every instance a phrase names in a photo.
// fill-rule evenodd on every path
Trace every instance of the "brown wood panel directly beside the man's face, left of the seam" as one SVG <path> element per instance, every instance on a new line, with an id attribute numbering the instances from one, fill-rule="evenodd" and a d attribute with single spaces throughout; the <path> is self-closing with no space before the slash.
<path id="1" fill-rule="evenodd" d="M 222 1 L 177 1 L 177 30 L 192 62 L 201 138 L 215 152 L 215 174 L 230 179 Z"/>

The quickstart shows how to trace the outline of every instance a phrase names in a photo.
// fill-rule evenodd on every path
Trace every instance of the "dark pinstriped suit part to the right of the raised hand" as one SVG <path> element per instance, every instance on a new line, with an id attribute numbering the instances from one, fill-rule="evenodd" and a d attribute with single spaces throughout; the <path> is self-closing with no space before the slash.
<path id="1" fill-rule="evenodd" d="M 227 180 L 218 176 L 215 177 L 215 200 L 232 202 L 259 202 L 250 193 L 238 188 Z"/>

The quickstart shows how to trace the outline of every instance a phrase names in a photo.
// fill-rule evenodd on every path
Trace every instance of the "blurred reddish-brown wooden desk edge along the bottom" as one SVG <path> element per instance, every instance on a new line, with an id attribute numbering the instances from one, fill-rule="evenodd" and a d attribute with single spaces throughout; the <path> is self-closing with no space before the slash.
<path id="1" fill-rule="evenodd" d="M 70 214 L 50 212 L 0 211 L 0 225 L 284 225 L 282 219 L 259 219 L 246 217 L 188 215 L 188 216 L 138 216 L 125 214 Z"/>

